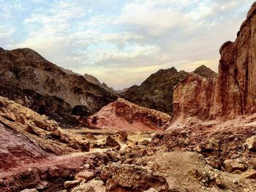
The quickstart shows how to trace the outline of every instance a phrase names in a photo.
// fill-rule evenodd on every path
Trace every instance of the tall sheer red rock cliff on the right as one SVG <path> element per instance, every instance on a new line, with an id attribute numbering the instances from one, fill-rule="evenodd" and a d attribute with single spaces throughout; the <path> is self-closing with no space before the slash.
<path id="1" fill-rule="evenodd" d="M 190 74 L 174 89 L 174 118 L 180 115 L 214 119 L 256 112 L 256 3 L 249 10 L 235 42 L 219 52 L 219 75 L 206 80 Z"/>

